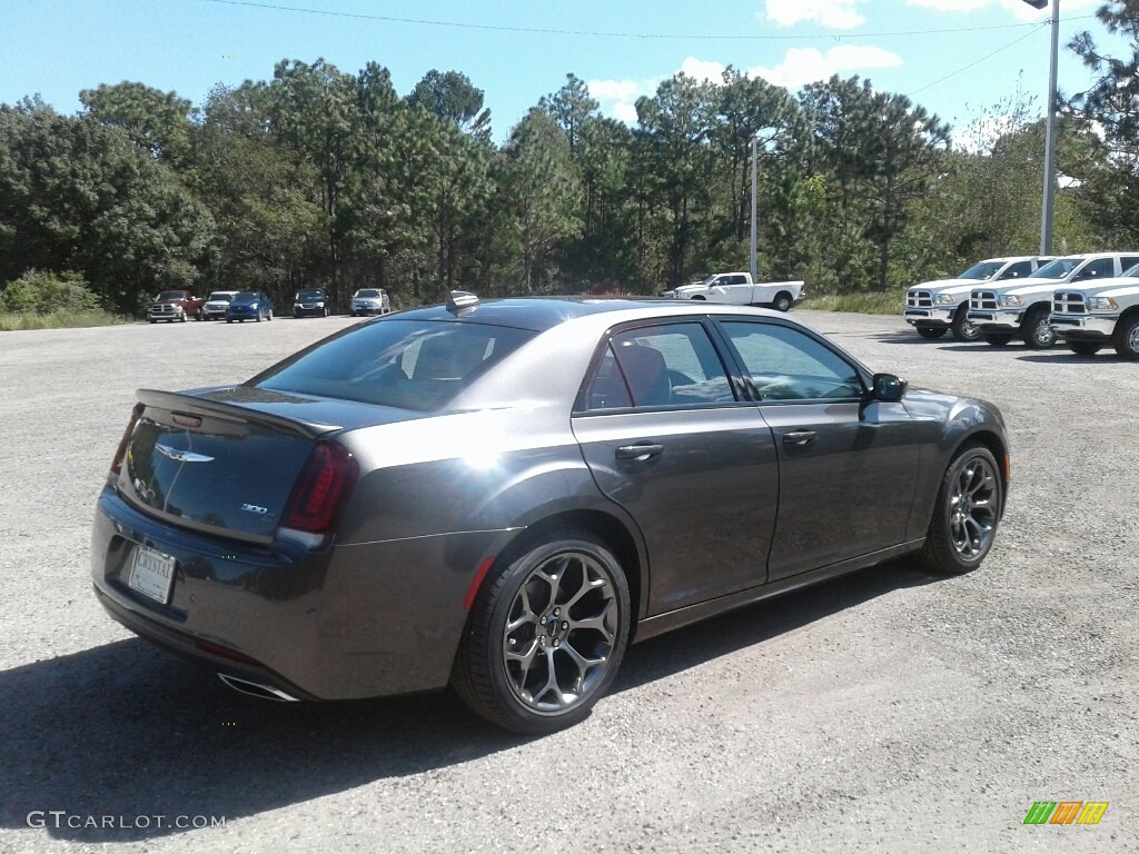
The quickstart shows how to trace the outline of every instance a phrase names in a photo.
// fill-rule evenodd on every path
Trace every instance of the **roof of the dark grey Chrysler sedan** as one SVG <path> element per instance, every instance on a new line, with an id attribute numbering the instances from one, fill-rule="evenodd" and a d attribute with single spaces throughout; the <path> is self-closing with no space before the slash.
<path id="1" fill-rule="evenodd" d="M 700 317 L 707 314 L 787 317 L 781 312 L 765 309 L 710 303 L 698 299 L 563 296 L 482 299 L 477 305 L 459 311 L 449 310 L 445 305 L 432 305 L 424 309 L 400 312 L 392 315 L 392 319 L 487 323 L 541 332 L 566 321 L 593 314 L 620 315 L 614 317 L 613 322 L 637 320 L 639 317 Z"/>

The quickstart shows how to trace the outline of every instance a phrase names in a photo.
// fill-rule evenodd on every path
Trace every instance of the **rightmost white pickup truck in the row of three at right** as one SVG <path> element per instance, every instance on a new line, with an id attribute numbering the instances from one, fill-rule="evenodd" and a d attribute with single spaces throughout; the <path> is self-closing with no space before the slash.
<path id="1" fill-rule="evenodd" d="M 1095 287 L 1057 290 L 1048 320 L 1073 353 L 1095 355 L 1112 344 L 1139 361 L 1139 265 Z"/>

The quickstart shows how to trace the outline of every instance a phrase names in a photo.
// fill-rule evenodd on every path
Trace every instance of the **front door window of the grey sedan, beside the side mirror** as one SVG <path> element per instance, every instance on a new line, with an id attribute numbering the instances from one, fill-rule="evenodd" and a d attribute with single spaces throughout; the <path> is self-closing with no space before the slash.
<path id="1" fill-rule="evenodd" d="M 853 364 L 805 332 L 777 323 L 720 325 L 761 401 L 860 397 Z"/>

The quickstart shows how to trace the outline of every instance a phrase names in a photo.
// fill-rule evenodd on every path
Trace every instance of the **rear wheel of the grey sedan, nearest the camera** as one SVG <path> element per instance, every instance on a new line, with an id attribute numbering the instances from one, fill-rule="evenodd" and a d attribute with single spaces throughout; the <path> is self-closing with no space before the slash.
<path id="1" fill-rule="evenodd" d="M 451 684 L 481 717 L 548 734 L 584 720 L 612 684 L 629 641 L 629 583 L 608 547 L 577 528 L 513 556 L 475 598 Z"/>

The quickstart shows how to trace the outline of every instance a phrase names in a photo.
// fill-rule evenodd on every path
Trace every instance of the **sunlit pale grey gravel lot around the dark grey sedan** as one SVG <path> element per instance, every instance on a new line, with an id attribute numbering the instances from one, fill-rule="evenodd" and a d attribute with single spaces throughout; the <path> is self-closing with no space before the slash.
<path id="1" fill-rule="evenodd" d="M 636 646 L 585 723 L 528 741 L 448 695 L 244 698 L 91 593 L 134 389 L 241 380 L 353 321 L 0 336 L 0 851 L 1139 851 L 1139 366 L 796 314 L 1002 408 L 988 561 L 896 561 Z M 1111 806 L 1025 827 L 1035 800 Z"/>

